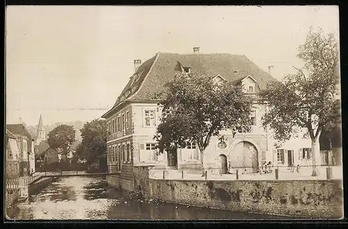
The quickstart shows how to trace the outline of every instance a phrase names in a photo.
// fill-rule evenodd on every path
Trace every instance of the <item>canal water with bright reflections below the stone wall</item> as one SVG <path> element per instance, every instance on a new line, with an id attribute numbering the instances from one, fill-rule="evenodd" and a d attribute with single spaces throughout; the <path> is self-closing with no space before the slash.
<path id="1" fill-rule="evenodd" d="M 198 220 L 198 219 L 285 219 L 241 212 L 211 210 L 173 203 L 130 200 L 122 192 L 109 188 L 105 177 L 63 177 L 40 193 L 17 203 L 8 212 L 17 220 Z"/>

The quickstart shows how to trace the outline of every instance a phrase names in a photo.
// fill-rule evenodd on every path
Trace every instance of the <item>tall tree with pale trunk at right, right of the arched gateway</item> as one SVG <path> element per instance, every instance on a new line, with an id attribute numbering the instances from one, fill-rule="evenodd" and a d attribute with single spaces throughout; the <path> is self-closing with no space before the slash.
<path id="1" fill-rule="evenodd" d="M 312 141 L 313 176 L 318 175 L 319 136 L 333 127 L 335 93 L 338 93 L 338 50 L 333 34 L 311 28 L 306 42 L 299 46 L 297 55 L 303 69 L 289 74 L 283 82 L 272 81 L 260 95 L 268 102 L 269 111 L 262 125 L 274 129 L 278 141 L 296 136 L 301 128 L 308 131 Z"/>

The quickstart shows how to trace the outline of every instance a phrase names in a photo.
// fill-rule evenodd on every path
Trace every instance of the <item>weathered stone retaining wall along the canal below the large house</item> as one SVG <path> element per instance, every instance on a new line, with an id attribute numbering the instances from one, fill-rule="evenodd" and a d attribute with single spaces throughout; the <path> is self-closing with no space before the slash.
<path id="1" fill-rule="evenodd" d="M 343 216 L 342 180 L 155 180 L 149 170 L 134 166 L 132 190 L 129 180 L 123 188 L 120 175 L 106 180 L 116 189 L 166 203 L 301 219 Z"/>

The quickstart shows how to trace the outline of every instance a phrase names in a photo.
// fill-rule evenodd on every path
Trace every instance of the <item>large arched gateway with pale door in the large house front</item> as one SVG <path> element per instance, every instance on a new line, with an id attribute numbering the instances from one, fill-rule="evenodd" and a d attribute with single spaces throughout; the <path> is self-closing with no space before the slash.
<path id="1" fill-rule="evenodd" d="M 243 172 L 258 173 L 258 148 L 249 141 L 239 141 L 230 148 L 230 167 L 248 167 Z M 242 168 L 239 168 L 241 170 Z"/>

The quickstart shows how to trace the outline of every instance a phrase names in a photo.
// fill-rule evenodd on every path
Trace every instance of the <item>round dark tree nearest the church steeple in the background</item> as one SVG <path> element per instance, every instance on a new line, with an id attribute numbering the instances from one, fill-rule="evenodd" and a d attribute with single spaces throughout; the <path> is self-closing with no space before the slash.
<path id="1" fill-rule="evenodd" d="M 66 159 L 70 146 L 75 141 L 75 130 L 70 125 L 59 125 L 48 134 L 47 143 L 51 148 L 58 150 Z"/>

